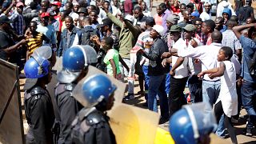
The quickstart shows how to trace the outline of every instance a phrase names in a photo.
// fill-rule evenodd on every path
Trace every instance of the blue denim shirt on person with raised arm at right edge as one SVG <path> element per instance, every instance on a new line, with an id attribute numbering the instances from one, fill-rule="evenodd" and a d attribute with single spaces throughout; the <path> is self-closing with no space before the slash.
<path id="1" fill-rule="evenodd" d="M 256 79 L 251 78 L 247 65 L 247 62 L 250 61 L 250 58 L 253 58 L 253 55 L 256 51 L 256 42 L 250 38 L 246 38 L 243 35 L 240 36 L 239 41 L 241 42 L 243 48 L 241 76 L 248 82 L 256 82 Z"/>

